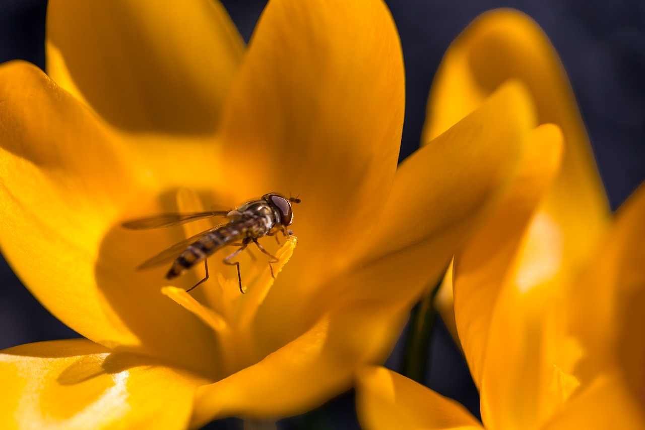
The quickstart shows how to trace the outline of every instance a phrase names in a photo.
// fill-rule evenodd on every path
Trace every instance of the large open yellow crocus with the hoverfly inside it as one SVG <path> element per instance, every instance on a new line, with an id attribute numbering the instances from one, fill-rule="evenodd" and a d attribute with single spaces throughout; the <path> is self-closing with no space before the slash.
<path id="1" fill-rule="evenodd" d="M 3 428 L 195 427 L 347 389 L 388 354 L 536 124 L 509 83 L 397 169 L 403 65 L 379 0 L 273 0 L 246 50 L 213 0 L 52 0 L 46 46 L 48 76 L 0 67 L 0 243 L 86 339 L 0 354 Z M 272 249 L 275 282 L 243 256 L 240 294 L 225 254 L 193 295 L 199 269 L 165 287 L 167 268 L 135 271 L 198 229 L 124 220 L 273 191 L 303 200 L 297 249 Z"/>

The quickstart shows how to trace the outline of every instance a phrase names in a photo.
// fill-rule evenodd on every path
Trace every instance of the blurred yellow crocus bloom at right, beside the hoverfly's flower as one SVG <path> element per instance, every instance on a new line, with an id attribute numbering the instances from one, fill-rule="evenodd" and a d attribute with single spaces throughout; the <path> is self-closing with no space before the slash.
<path id="1" fill-rule="evenodd" d="M 449 321 L 453 309 L 483 427 L 642 429 L 645 186 L 612 225 L 570 88 L 537 25 L 508 10 L 473 22 L 446 54 L 427 133 L 511 77 L 530 88 L 540 122 L 562 128 L 565 148 L 541 188 L 526 179 L 530 163 L 518 169 L 442 286 L 454 292 L 454 304 L 444 291 L 439 305 Z M 471 105 L 449 100 L 450 88 Z M 461 405 L 377 367 L 361 371 L 357 405 L 372 429 L 388 420 L 482 427 Z"/>

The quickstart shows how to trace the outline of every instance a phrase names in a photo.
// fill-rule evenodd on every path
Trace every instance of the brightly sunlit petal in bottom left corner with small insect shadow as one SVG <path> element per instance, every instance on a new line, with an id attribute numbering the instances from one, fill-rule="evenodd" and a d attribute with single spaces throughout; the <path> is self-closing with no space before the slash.
<path id="1" fill-rule="evenodd" d="M 85 339 L 5 349 L 0 372 L 3 429 L 184 429 L 201 382 Z"/>

